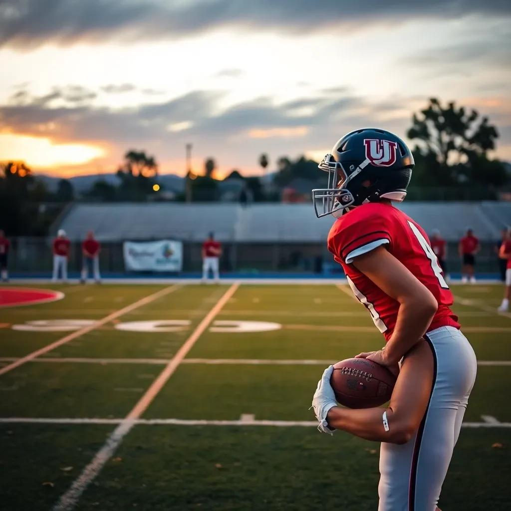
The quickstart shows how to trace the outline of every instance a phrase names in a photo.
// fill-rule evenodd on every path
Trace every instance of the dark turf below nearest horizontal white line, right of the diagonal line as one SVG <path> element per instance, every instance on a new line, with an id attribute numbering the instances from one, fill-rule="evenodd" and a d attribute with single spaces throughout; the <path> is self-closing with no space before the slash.
<path id="1" fill-rule="evenodd" d="M 508 447 L 492 449 L 495 442 L 509 446 L 510 432 L 462 431 L 440 500 L 444 511 L 507 508 L 511 458 Z M 372 511 L 377 450 L 314 428 L 138 426 L 117 453 L 122 461 L 108 463 L 80 508 L 100 503 L 113 511 L 122 498 L 125 509 L 141 510 Z"/>

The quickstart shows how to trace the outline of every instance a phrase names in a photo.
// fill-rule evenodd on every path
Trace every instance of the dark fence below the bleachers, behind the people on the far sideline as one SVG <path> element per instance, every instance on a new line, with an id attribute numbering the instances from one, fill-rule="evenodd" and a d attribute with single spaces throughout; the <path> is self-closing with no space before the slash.
<path id="1" fill-rule="evenodd" d="M 9 269 L 16 274 L 48 274 L 52 269 L 52 240 L 49 238 L 14 238 L 9 254 Z M 483 243 L 476 257 L 476 272 L 498 273 L 495 244 Z M 183 241 L 183 273 L 201 271 L 202 244 Z M 456 243 L 448 244 L 448 272 L 460 271 Z M 72 243 L 68 270 L 82 268 L 81 244 Z M 103 242 L 100 253 L 100 268 L 108 273 L 131 274 L 125 271 L 123 244 Z M 223 244 L 220 269 L 224 272 L 342 272 L 333 261 L 326 243 L 235 243 Z"/>

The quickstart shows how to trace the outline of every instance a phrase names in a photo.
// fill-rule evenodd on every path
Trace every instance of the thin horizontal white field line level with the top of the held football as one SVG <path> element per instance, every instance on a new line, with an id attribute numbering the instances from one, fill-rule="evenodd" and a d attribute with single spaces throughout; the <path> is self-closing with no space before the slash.
<path id="1" fill-rule="evenodd" d="M 14 362 L 15 357 L 0 357 L 2 362 Z M 165 365 L 169 363 L 167 358 L 35 358 L 30 362 L 56 362 L 77 364 L 148 364 Z M 249 359 L 249 358 L 185 358 L 181 364 L 232 364 L 232 365 L 330 365 L 338 360 L 281 360 L 281 359 Z M 507 366 L 511 360 L 478 360 L 477 365 Z"/>

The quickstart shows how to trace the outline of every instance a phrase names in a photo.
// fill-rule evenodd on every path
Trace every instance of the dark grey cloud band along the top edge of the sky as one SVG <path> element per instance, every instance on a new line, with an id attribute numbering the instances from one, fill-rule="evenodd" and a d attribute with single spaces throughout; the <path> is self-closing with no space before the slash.
<path id="1" fill-rule="evenodd" d="M 219 26 L 304 33 L 327 26 L 400 21 L 420 16 L 511 14 L 507 0 L 3 0 L 0 45 L 30 47 L 49 40 L 176 38 Z"/>

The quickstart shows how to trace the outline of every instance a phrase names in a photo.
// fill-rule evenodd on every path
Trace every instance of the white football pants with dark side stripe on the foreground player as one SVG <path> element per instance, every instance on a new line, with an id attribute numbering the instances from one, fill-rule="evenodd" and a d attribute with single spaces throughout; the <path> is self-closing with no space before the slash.
<path id="1" fill-rule="evenodd" d="M 381 444 L 378 511 L 435 511 L 474 386 L 477 360 L 467 338 L 453 327 L 425 337 L 435 361 L 429 405 L 410 442 Z"/>

